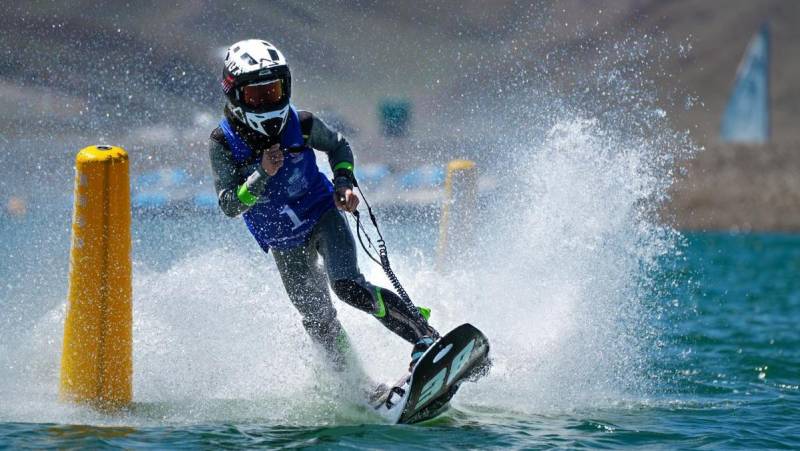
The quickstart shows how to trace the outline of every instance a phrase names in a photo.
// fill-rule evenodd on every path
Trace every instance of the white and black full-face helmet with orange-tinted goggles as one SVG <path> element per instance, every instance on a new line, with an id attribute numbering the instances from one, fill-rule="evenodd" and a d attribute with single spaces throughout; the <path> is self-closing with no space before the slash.
<path id="1" fill-rule="evenodd" d="M 283 130 L 289 117 L 292 75 L 274 45 L 248 39 L 230 46 L 222 89 L 231 112 L 248 127 L 270 137 Z"/>

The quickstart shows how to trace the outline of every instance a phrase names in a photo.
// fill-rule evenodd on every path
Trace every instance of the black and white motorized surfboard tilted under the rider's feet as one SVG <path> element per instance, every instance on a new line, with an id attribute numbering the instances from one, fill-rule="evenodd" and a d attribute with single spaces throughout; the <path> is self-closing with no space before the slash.
<path id="1" fill-rule="evenodd" d="M 410 374 L 391 387 L 381 385 L 370 402 L 390 423 L 430 420 L 447 410 L 461 383 L 477 380 L 490 366 L 489 340 L 462 324 L 431 345 Z"/>

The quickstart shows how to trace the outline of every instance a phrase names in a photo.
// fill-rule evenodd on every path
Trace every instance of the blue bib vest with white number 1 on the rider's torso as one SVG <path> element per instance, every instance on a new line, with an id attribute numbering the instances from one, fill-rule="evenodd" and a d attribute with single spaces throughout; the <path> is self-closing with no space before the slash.
<path id="1" fill-rule="evenodd" d="M 227 118 L 219 123 L 237 163 L 245 163 L 253 150 L 233 129 Z M 305 242 L 319 218 L 331 208 L 333 185 L 317 167 L 314 151 L 305 145 L 300 119 L 294 107 L 281 132 L 283 166 L 270 177 L 258 202 L 243 217 L 247 228 L 264 251 L 287 249 Z M 300 152 L 294 152 L 302 148 Z"/>

